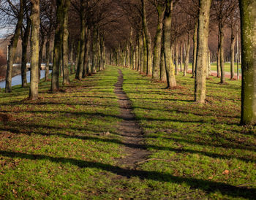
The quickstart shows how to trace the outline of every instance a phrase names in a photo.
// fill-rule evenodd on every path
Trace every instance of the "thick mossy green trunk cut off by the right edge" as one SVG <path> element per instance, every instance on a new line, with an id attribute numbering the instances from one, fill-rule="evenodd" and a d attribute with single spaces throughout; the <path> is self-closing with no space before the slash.
<path id="1" fill-rule="evenodd" d="M 256 123 L 256 1 L 240 0 L 242 92 L 241 125 Z"/>

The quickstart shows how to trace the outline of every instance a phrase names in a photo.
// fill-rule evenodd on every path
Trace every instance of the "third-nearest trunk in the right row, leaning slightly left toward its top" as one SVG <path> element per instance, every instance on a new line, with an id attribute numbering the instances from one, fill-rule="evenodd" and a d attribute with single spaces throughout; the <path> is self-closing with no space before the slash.
<path id="1" fill-rule="evenodd" d="M 176 87 L 175 69 L 173 67 L 171 52 L 171 20 L 173 13 L 173 0 L 166 0 L 165 19 L 164 19 L 164 53 L 165 53 L 165 69 L 167 77 L 167 88 Z"/>

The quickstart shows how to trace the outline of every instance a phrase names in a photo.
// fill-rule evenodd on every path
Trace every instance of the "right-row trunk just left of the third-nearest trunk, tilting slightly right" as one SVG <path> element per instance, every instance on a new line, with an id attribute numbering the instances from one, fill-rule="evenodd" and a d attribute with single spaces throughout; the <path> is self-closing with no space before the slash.
<path id="1" fill-rule="evenodd" d="M 154 80 L 159 80 L 159 55 L 161 52 L 161 44 L 162 44 L 162 20 L 164 18 L 165 12 L 163 12 L 162 6 L 157 5 L 157 14 L 158 14 L 158 22 L 157 22 L 157 34 L 154 39 L 154 54 L 153 54 L 153 68 L 152 68 L 152 78 Z"/>

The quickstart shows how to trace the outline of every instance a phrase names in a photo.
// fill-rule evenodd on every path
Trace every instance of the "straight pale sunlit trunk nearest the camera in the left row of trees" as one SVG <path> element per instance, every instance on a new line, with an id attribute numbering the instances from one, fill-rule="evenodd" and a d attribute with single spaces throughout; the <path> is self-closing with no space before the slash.
<path id="1" fill-rule="evenodd" d="M 39 64 L 39 0 L 31 1 L 31 75 L 29 99 L 38 99 L 38 64 Z"/>

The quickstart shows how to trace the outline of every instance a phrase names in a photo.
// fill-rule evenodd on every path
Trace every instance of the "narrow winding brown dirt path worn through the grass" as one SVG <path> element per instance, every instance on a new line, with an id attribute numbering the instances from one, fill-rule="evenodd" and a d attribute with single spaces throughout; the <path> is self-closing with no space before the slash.
<path id="1" fill-rule="evenodd" d="M 121 69 L 118 69 L 118 73 L 119 77 L 115 85 L 115 93 L 121 109 L 119 117 L 123 119 L 118 125 L 118 132 L 123 136 L 124 150 L 129 154 L 127 157 L 119 159 L 118 165 L 122 165 L 127 169 L 136 169 L 138 163 L 146 160 L 150 153 L 144 145 L 143 131 L 132 113 L 132 103 L 123 91 L 124 75 Z"/>

